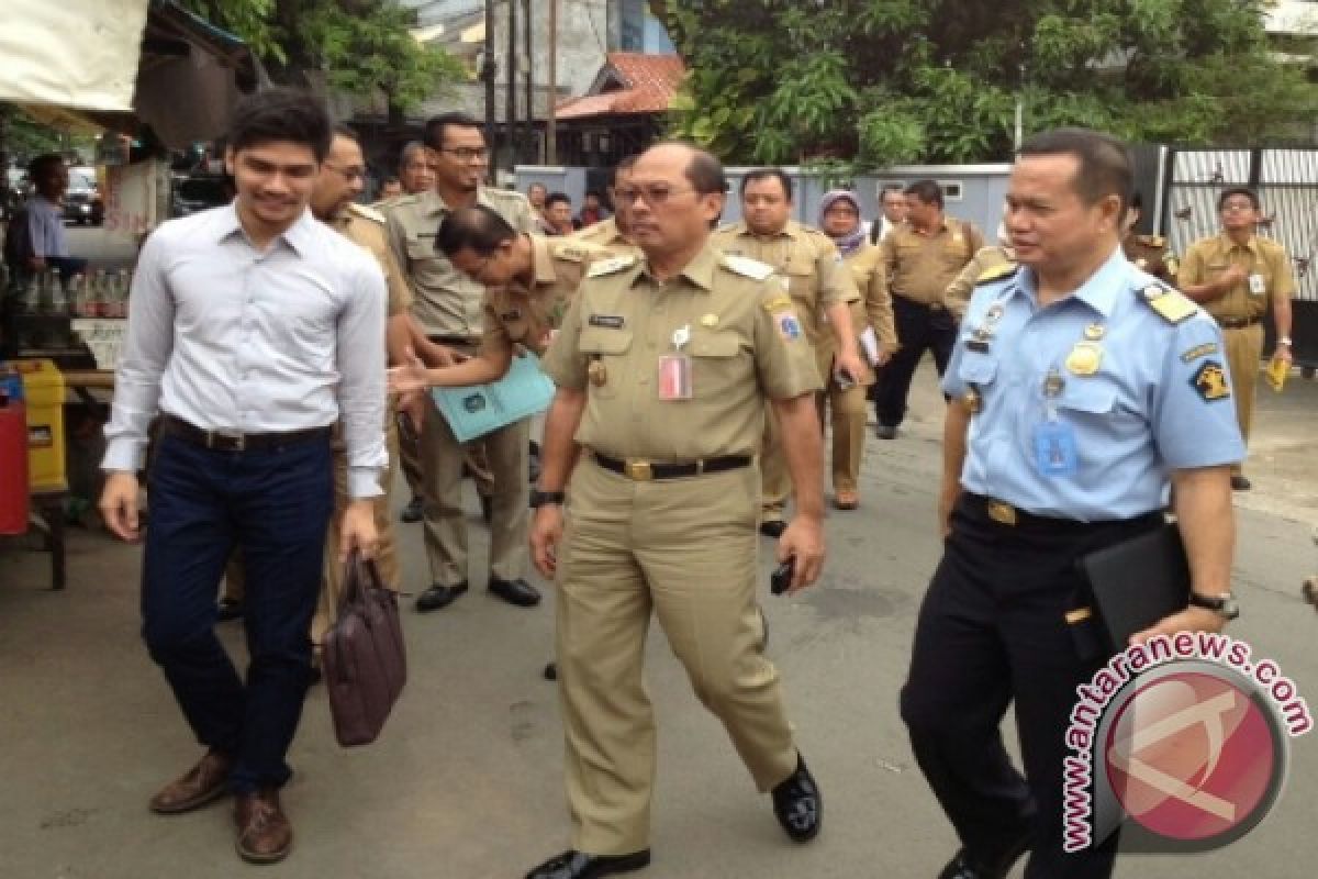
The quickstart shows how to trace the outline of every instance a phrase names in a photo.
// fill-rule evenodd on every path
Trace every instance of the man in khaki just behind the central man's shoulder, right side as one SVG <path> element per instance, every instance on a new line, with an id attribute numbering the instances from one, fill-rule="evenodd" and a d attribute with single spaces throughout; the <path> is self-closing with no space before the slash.
<path id="1" fill-rule="evenodd" d="M 805 340 L 817 356 L 818 373 L 833 381 L 834 370 L 851 381 L 865 377 L 851 304 L 859 300 L 851 273 L 837 246 L 818 229 L 791 220 L 792 179 L 779 169 L 760 169 L 742 178 L 742 216 L 721 227 L 710 242 L 730 256 L 745 256 L 774 266 L 787 277 Z M 824 324 L 829 324 L 825 329 Z M 772 418 L 764 422 L 759 463 L 763 474 L 760 532 L 776 538 L 787 527 L 788 478 Z"/>

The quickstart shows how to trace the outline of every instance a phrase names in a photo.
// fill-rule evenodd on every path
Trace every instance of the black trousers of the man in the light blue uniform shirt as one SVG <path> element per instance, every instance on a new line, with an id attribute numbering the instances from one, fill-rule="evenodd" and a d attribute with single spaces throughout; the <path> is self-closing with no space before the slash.
<path id="1" fill-rule="evenodd" d="M 929 787 L 970 858 L 999 861 L 1032 837 L 1027 879 L 1110 876 L 1116 834 L 1062 851 L 1064 741 L 1075 687 L 1107 662 L 1095 621 L 1065 614 L 1085 594 L 1075 560 L 1161 525 L 1161 514 L 1111 523 L 1007 526 L 962 496 L 924 604 L 902 689 L 902 718 Z M 1025 774 L 999 725 L 1015 704 Z"/>

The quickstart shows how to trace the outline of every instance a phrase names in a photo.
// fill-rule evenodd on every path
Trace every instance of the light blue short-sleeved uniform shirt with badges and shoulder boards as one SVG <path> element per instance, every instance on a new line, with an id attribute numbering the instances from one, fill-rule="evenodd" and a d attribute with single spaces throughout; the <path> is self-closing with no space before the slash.
<path id="1" fill-rule="evenodd" d="M 975 289 L 942 381 L 953 397 L 981 395 L 962 488 L 1036 515 L 1127 519 L 1166 505 L 1172 470 L 1244 459 L 1220 329 L 1199 308 L 1168 322 L 1145 300 L 1151 286 L 1164 289 L 1116 248 L 1048 307 L 1028 269 Z M 985 326 L 987 351 L 975 351 L 967 343 Z M 1101 349 L 1093 374 L 1068 368 L 1077 343 Z M 1062 382 L 1049 398 L 1050 370 Z M 1050 418 L 1075 440 L 1065 476 L 1036 460 L 1036 430 Z"/>

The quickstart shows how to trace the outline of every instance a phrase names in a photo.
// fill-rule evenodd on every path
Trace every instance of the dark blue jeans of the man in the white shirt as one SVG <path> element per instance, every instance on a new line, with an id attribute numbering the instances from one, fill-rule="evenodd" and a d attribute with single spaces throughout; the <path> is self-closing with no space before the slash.
<path id="1" fill-rule="evenodd" d="M 333 509 L 328 435 L 245 452 L 163 435 L 148 489 L 146 647 L 200 743 L 233 759 L 233 789 L 278 787 L 311 680 Z M 235 544 L 246 567 L 245 685 L 215 637 L 215 584 Z"/>

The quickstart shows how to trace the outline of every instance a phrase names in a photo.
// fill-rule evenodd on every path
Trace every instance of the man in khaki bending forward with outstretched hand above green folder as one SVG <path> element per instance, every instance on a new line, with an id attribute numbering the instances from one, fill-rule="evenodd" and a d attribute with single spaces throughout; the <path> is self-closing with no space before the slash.
<path id="1" fill-rule="evenodd" d="M 573 239 L 517 232 L 482 204 L 457 208 L 439 225 L 435 248 L 459 271 L 485 285 L 480 353 L 452 366 L 427 368 L 419 357 L 391 369 L 389 387 L 467 387 L 498 381 L 515 347 L 543 354 L 592 260 L 613 256 Z"/>

